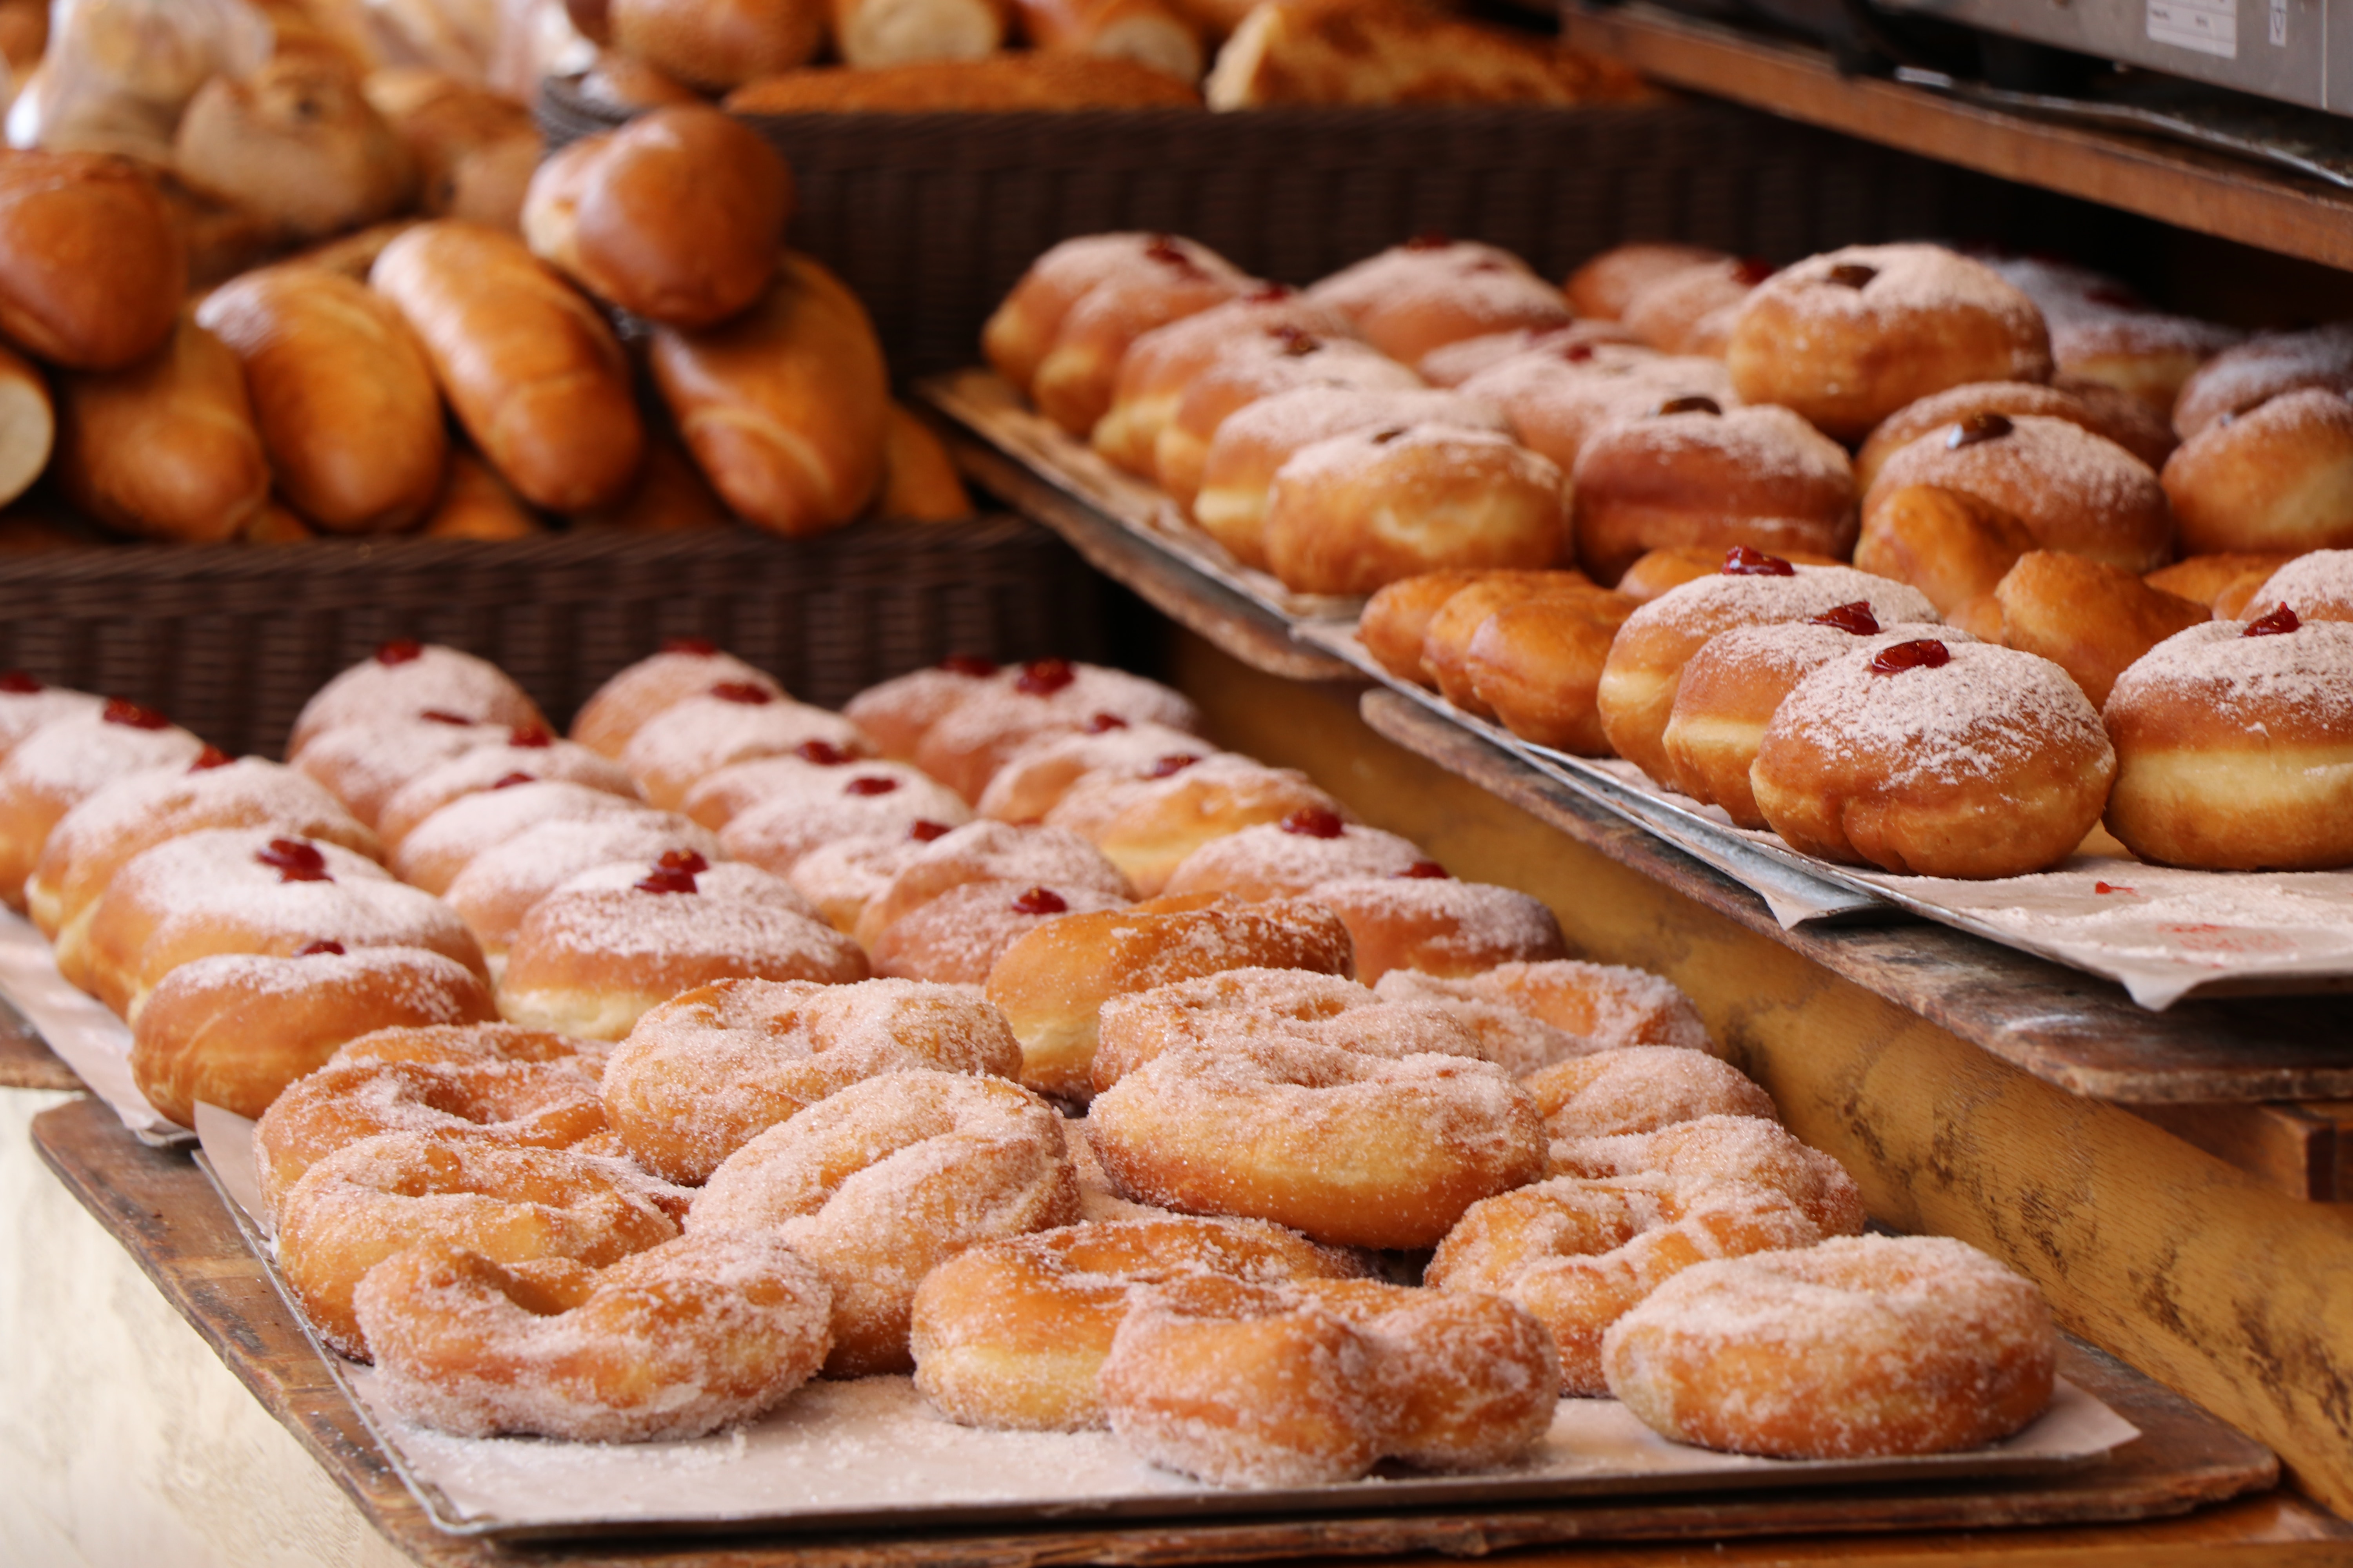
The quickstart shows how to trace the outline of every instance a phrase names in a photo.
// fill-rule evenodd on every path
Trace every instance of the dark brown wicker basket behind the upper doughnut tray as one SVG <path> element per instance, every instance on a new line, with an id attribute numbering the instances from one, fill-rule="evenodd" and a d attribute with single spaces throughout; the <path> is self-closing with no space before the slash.
<path id="1" fill-rule="evenodd" d="M 562 80 L 539 115 L 553 143 L 614 125 Z M 751 122 L 793 165 L 793 242 L 859 292 L 901 378 L 972 364 L 1042 249 L 1113 228 L 1191 235 L 1280 282 L 1426 230 L 1489 240 L 1546 277 L 1624 240 L 1777 263 L 1920 235 L 2104 249 L 2094 209 L 1727 103 Z"/>

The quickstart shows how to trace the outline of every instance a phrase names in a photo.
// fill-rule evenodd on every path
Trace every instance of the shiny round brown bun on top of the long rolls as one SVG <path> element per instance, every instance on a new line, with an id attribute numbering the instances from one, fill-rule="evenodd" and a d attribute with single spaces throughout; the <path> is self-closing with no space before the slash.
<path id="1" fill-rule="evenodd" d="M 671 327 L 713 327 L 776 275 L 793 174 L 711 106 L 656 108 L 539 165 L 522 237 L 598 299 Z"/>

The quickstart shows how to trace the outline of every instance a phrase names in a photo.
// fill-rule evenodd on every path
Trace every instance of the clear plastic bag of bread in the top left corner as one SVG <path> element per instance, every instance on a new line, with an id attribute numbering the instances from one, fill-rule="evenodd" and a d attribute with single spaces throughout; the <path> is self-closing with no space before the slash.
<path id="1" fill-rule="evenodd" d="M 167 165 L 195 89 L 268 56 L 271 26 L 247 0 L 56 0 L 49 49 L 9 106 L 7 139 Z"/>

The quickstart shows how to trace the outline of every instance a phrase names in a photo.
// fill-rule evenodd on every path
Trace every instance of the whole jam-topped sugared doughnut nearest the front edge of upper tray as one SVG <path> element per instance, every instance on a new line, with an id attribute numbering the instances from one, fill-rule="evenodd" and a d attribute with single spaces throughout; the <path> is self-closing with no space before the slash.
<path id="1" fill-rule="evenodd" d="M 1911 877 L 2019 877 L 2075 853 L 2115 750 L 2066 670 L 1979 642 L 1840 654 L 1774 710 L 1748 773 L 1800 853 Z"/>

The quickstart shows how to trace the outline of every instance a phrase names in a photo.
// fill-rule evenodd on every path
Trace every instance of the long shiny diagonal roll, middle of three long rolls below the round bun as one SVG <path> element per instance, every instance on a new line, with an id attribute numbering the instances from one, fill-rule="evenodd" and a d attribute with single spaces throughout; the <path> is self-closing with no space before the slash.
<path id="1" fill-rule="evenodd" d="M 628 489 L 645 428 L 628 357 L 605 317 L 522 240 L 480 223 L 419 223 L 369 282 L 407 317 L 482 456 L 551 510 Z"/>

